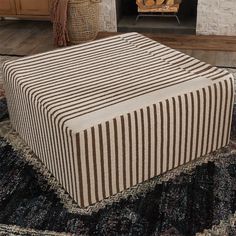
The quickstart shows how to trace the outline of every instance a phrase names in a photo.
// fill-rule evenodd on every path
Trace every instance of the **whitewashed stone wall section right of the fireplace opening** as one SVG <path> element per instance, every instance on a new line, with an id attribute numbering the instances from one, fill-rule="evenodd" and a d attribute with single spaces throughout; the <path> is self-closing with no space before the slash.
<path id="1" fill-rule="evenodd" d="M 197 34 L 236 36 L 236 1 L 198 0 Z"/>

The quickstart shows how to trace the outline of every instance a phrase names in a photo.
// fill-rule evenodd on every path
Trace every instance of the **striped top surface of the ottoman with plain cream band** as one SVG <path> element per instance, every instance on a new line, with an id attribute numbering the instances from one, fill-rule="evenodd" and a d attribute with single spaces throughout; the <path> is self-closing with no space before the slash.
<path id="1" fill-rule="evenodd" d="M 77 131 L 230 76 L 137 33 L 10 61 L 3 71 Z"/>

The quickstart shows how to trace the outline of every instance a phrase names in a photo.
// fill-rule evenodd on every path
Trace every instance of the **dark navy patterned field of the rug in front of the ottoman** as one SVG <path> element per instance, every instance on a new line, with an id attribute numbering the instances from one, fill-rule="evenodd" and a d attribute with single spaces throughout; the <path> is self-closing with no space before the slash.
<path id="1" fill-rule="evenodd" d="M 136 199 L 83 215 L 70 213 L 44 176 L 0 138 L 0 223 L 77 235 L 195 235 L 236 211 L 236 152 L 221 152 Z"/>

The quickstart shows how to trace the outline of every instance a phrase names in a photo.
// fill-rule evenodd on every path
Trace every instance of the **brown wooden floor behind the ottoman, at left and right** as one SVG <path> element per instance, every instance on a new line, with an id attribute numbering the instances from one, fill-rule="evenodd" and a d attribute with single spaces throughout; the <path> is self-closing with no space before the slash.
<path id="1" fill-rule="evenodd" d="M 97 38 L 118 33 L 101 32 Z M 150 38 L 216 66 L 236 67 L 236 37 L 154 35 Z M 0 21 L 0 55 L 32 55 L 55 49 L 52 25 L 43 21 Z"/>

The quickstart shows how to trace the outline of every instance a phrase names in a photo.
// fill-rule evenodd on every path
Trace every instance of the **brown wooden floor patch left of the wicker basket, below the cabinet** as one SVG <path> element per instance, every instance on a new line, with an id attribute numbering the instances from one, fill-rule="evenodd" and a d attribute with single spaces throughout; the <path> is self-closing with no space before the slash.
<path id="1" fill-rule="evenodd" d="M 0 21 L 0 54 L 32 55 L 54 49 L 52 25 L 45 21 Z"/>

